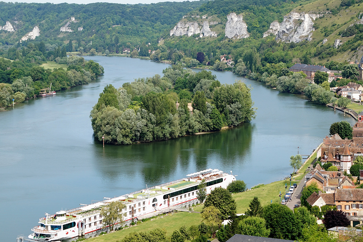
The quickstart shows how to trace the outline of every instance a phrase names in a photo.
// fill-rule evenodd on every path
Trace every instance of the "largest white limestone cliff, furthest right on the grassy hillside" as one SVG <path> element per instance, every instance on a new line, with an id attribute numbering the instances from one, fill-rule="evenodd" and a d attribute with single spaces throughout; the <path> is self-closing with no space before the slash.
<path id="1" fill-rule="evenodd" d="M 290 12 L 284 16 L 284 20 L 279 24 L 280 26 L 276 23 L 277 21 L 272 22 L 270 29 L 264 33 L 264 37 L 274 34 L 276 35 L 276 40 L 284 42 L 298 43 L 303 40 L 311 41 L 311 36 L 315 30 L 313 20 L 320 16 L 322 14 Z"/>

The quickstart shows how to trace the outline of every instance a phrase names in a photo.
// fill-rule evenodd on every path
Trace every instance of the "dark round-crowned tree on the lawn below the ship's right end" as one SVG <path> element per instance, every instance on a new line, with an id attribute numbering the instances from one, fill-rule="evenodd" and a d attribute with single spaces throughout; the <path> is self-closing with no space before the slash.
<path id="1" fill-rule="evenodd" d="M 214 206 L 221 212 L 221 218 L 227 219 L 229 216 L 236 214 L 236 202 L 232 198 L 232 194 L 226 189 L 217 187 L 207 196 L 204 202 L 204 209 Z"/>

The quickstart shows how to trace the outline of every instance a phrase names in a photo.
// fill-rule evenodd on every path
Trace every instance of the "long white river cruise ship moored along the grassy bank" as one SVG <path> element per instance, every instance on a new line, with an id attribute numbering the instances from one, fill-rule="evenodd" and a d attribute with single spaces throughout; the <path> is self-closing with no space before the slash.
<path id="1" fill-rule="evenodd" d="M 29 239 L 74 241 L 107 231 L 109 228 L 103 224 L 100 211 L 102 206 L 112 201 L 123 201 L 126 206 L 122 211 L 124 223 L 115 224 L 115 228 L 129 225 L 131 222 L 136 223 L 142 218 L 170 212 L 175 208 L 187 208 L 198 203 L 196 192 L 202 179 L 207 185 L 207 194 L 216 187 L 227 188 L 230 182 L 236 180 L 232 172 L 228 174 L 217 169 L 207 169 L 188 174 L 184 179 L 108 198 L 76 209 L 59 211 L 53 215 L 45 213 L 45 216 L 39 219 L 40 225 L 32 229 L 33 233 L 29 235 Z"/>

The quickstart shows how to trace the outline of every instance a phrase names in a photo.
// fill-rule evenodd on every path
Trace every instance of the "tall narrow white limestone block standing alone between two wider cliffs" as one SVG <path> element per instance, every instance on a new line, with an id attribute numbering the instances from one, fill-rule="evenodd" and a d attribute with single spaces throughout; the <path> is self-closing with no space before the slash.
<path id="1" fill-rule="evenodd" d="M 237 39 L 249 37 L 247 25 L 245 21 L 243 21 L 242 15 L 237 15 L 236 13 L 230 13 L 227 15 L 225 36 Z"/>

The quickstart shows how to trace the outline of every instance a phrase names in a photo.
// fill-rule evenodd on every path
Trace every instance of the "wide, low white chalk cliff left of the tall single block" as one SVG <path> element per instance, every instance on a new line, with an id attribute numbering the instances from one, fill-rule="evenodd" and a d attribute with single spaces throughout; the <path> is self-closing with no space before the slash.
<path id="1" fill-rule="evenodd" d="M 217 22 L 213 22 L 213 24 L 217 24 Z M 170 30 L 170 36 L 182 36 L 186 35 L 188 37 L 193 34 L 199 34 L 199 37 L 217 37 L 217 33 L 211 31 L 209 28 L 209 22 L 204 21 L 203 26 L 200 28 L 198 22 L 183 22 L 179 21 L 177 25 L 175 25 L 174 29 Z"/>

